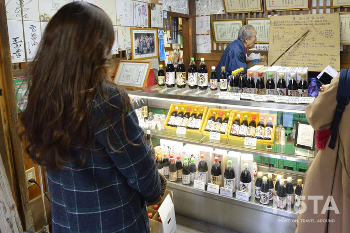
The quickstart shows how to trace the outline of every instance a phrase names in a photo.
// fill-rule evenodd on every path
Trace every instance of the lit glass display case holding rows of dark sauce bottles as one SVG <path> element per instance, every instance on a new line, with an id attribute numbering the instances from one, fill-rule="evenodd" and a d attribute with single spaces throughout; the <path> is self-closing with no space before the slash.
<path id="1" fill-rule="evenodd" d="M 220 91 L 188 89 L 188 87 L 167 88 L 158 85 L 147 87 L 144 91 L 128 91 L 128 93 L 132 98 L 147 100 L 150 111 L 160 111 L 167 115 L 166 126 L 175 105 L 205 107 L 200 129 L 179 132 L 177 128 L 168 126 L 152 132 L 153 138 L 252 154 L 258 171 L 262 171 L 263 174 L 273 173 L 274 180 L 277 174 L 284 175 L 285 180 L 287 176 L 291 176 L 294 188 L 297 179 L 304 180 L 305 172 L 317 153 L 315 148 L 305 149 L 294 145 L 297 122 L 307 121 L 305 116 L 307 104 L 227 100 L 220 99 Z M 213 139 L 212 134 L 205 131 L 205 125 L 213 111 L 210 109 L 222 110 L 225 114 L 229 112 L 231 116 L 227 125 L 228 130 L 226 133 L 221 133 L 218 139 Z M 267 118 L 271 116 L 272 138 L 266 141 L 252 139 L 251 144 L 245 140 L 245 137 L 230 135 L 238 113 L 242 115 L 241 119 L 247 115 L 248 122 L 256 119 L 256 124 L 261 116 L 265 125 Z M 279 130 L 282 128 L 285 131 L 285 137 L 280 137 Z M 283 142 L 280 141 L 281 139 Z M 240 174 L 236 174 L 238 179 L 236 182 L 239 182 L 239 177 Z M 253 183 L 255 179 L 254 175 Z M 208 190 L 196 189 L 192 183 L 189 186 L 183 185 L 181 181 L 168 182 L 168 188 L 174 192 L 175 211 L 186 216 L 238 232 L 261 232 L 263 228 L 264 232 L 287 233 L 294 232 L 296 228 L 298 208 L 295 205 L 280 209 L 276 207 L 275 202 L 264 205 L 259 200 L 255 200 L 254 196 L 249 201 L 240 200 L 235 194 L 230 198 Z"/>

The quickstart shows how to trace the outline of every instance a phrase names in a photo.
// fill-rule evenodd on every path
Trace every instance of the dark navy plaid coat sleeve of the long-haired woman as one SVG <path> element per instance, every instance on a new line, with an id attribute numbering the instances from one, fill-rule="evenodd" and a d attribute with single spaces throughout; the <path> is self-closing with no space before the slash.
<path id="1" fill-rule="evenodd" d="M 116 89 L 110 88 L 109 94 L 111 104 L 122 106 L 122 99 Z M 161 180 L 134 109 L 125 118 L 124 133 L 119 110 L 104 101 L 95 102 L 94 105 L 93 116 L 103 117 L 106 121 L 95 133 L 97 141 L 104 145 L 108 156 L 127 178 L 131 188 L 137 190 L 146 201 L 159 198 Z"/>

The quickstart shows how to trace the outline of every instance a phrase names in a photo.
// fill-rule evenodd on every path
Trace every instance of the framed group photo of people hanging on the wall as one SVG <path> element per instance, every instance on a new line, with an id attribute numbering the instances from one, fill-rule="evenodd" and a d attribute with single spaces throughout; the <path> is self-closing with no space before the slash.
<path id="1" fill-rule="evenodd" d="M 131 28 L 132 59 L 158 57 L 157 29 Z"/>

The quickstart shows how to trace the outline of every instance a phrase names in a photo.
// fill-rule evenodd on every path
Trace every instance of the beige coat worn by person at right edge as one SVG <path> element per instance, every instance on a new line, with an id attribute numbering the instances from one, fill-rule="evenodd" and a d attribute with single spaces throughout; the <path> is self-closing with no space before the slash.
<path id="1" fill-rule="evenodd" d="M 314 130 L 330 130 L 337 105 L 339 75 L 324 93 L 306 108 L 306 117 Z M 350 91 L 350 90 L 349 90 Z M 338 128 L 334 150 L 328 147 L 318 151 L 306 173 L 302 196 L 307 208 L 299 213 L 296 233 L 349 233 L 350 232 L 350 104 L 346 106 Z M 339 214 L 334 210 L 321 213 L 325 200 L 332 195 Z M 308 196 L 322 196 L 323 200 L 308 200 Z M 328 202 L 329 203 L 329 202 Z M 314 213 L 314 207 L 317 214 Z M 302 210 L 303 211 L 303 207 Z M 329 214 L 329 216 L 328 216 Z M 331 220 L 325 223 L 322 221 Z M 305 221 L 313 222 L 305 222 Z M 334 221 L 334 222 L 333 222 Z"/>

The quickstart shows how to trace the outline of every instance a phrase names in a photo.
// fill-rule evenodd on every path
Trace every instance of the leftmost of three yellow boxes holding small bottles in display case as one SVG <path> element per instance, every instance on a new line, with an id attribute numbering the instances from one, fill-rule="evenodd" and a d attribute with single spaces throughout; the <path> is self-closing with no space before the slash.
<path id="1" fill-rule="evenodd" d="M 207 106 L 202 106 L 202 105 L 194 105 L 194 104 L 172 103 L 170 105 L 169 112 L 168 112 L 167 118 L 165 119 L 165 123 L 164 123 L 164 127 L 166 129 L 168 129 L 168 130 L 176 130 L 176 127 L 168 126 L 168 121 L 170 119 L 170 116 L 174 112 L 176 106 L 178 107 L 177 114 L 181 111 L 181 107 L 185 108 L 185 110 L 183 111 L 183 114 L 186 113 L 186 110 L 187 110 L 188 107 L 191 108 L 190 116 L 194 112 L 194 109 L 197 109 L 197 117 L 201 113 L 201 110 L 203 110 L 202 122 L 201 122 L 201 125 L 200 125 L 199 129 L 198 130 L 193 130 L 193 129 L 187 129 L 186 130 L 186 132 L 200 133 L 202 125 L 204 124 L 203 123 L 203 119 L 205 119 L 205 117 L 206 117 L 206 113 L 207 113 L 208 107 Z"/>

